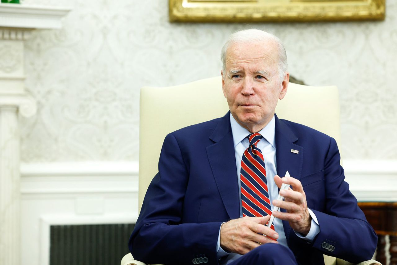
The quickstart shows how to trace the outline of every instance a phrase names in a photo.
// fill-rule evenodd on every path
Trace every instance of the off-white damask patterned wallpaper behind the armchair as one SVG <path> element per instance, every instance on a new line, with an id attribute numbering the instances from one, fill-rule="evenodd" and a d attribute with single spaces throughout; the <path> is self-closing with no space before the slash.
<path id="1" fill-rule="evenodd" d="M 167 0 L 24 3 L 73 8 L 25 46 L 24 162 L 137 160 L 139 88 L 218 75 L 225 39 L 251 27 L 281 38 L 292 75 L 339 87 L 345 159 L 397 159 L 397 1 L 381 22 L 251 25 L 170 24 Z"/>

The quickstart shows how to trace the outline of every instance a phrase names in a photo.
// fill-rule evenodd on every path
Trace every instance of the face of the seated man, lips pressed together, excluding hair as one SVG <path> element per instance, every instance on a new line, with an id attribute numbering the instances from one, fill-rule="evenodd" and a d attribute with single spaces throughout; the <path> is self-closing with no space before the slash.
<path id="1" fill-rule="evenodd" d="M 287 92 L 289 74 L 280 80 L 278 48 L 273 41 L 231 44 L 222 88 L 235 120 L 250 132 L 272 120 L 278 99 Z"/>

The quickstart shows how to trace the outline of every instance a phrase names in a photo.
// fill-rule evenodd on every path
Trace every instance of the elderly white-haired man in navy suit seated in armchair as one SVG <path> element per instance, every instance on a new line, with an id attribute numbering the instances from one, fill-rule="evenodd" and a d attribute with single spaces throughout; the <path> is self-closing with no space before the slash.
<path id="1" fill-rule="evenodd" d="M 261 30 L 239 31 L 225 43 L 222 62 L 230 111 L 166 136 L 129 242 L 135 259 L 169 265 L 317 265 L 323 254 L 370 259 L 377 236 L 344 182 L 335 140 L 275 114 L 289 82 L 281 41 Z M 280 191 L 279 201 L 283 183 L 291 188 Z M 281 211 L 272 212 L 275 206 Z M 268 227 L 271 214 L 276 219 Z"/>

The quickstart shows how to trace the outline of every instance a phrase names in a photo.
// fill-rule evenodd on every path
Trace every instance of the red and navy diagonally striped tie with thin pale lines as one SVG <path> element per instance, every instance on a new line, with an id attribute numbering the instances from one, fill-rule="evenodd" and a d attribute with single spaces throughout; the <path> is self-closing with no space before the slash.
<path id="1" fill-rule="evenodd" d="M 248 136 L 249 147 L 241 159 L 241 204 L 243 217 L 272 215 L 270 207 L 266 169 L 262 152 L 256 145 L 262 139 L 259 133 Z M 274 225 L 271 228 L 274 230 Z"/>

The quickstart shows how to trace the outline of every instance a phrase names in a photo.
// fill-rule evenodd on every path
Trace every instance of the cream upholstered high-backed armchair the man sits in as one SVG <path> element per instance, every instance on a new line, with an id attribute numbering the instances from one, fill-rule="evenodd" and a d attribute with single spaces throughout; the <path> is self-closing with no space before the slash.
<path id="1" fill-rule="evenodd" d="M 157 174 L 165 136 L 192 124 L 212 120 L 229 110 L 222 93 L 221 77 L 202 79 L 174 87 L 143 87 L 139 128 L 139 211 L 152 178 Z M 289 83 L 287 95 L 276 108 L 279 118 L 324 132 L 340 143 L 339 97 L 335 86 L 310 87 Z M 326 265 L 353 264 L 324 255 Z M 123 257 L 121 265 L 145 265 Z M 360 265 L 378 265 L 372 260 Z M 172 264 L 170 264 L 172 265 Z"/>

